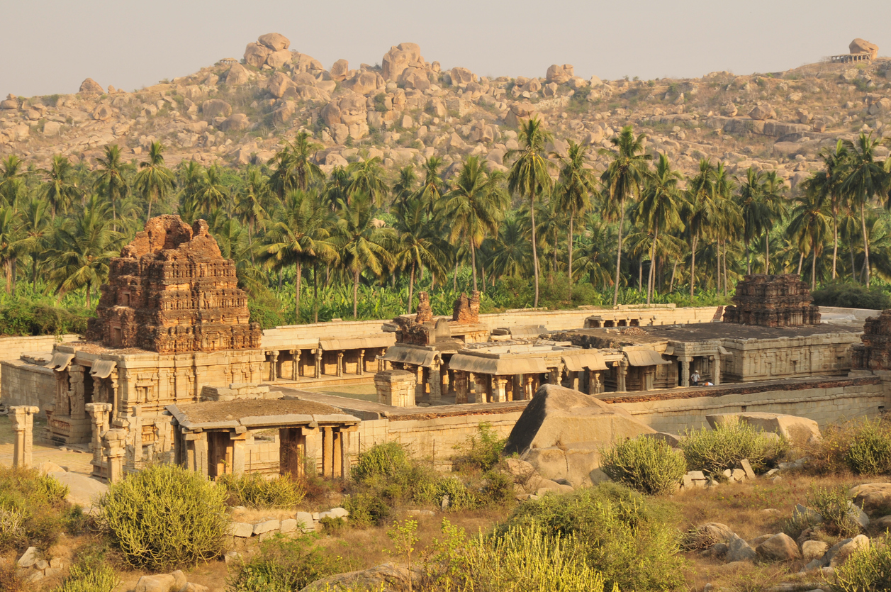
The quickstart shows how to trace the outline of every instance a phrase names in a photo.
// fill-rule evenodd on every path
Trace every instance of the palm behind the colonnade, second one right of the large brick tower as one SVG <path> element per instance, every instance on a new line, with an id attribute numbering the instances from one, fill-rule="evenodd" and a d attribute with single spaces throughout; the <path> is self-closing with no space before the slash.
<path id="1" fill-rule="evenodd" d="M 355 193 L 340 211 L 337 234 L 333 243 L 338 249 L 341 265 L 353 277 L 353 318 L 358 318 L 359 277 L 366 270 L 382 275 L 395 261 L 387 250 L 394 238 L 392 228 L 372 224 L 372 198 Z"/>

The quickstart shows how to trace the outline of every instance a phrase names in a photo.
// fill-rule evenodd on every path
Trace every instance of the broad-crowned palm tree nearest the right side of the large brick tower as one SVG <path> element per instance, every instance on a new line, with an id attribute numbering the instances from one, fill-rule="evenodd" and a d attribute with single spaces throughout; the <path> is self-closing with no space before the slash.
<path id="1" fill-rule="evenodd" d="M 303 266 L 315 259 L 334 259 L 331 212 L 317 193 L 295 190 L 285 196 L 275 223 L 266 234 L 261 259 L 271 267 L 294 266 L 294 307 L 300 322 L 300 286 Z"/>

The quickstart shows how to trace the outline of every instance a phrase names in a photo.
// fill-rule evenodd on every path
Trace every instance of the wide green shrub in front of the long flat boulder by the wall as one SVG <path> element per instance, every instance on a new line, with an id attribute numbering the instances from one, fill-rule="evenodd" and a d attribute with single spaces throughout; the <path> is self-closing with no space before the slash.
<path id="1" fill-rule="evenodd" d="M 752 470 L 764 473 L 789 450 L 783 438 L 756 430 L 745 422 L 723 423 L 715 430 L 688 430 L 679 446 L 692 471 L 705 471 L 719 478 L 724 469 L 739 467 L 744 458 L 748 458 Z"/>

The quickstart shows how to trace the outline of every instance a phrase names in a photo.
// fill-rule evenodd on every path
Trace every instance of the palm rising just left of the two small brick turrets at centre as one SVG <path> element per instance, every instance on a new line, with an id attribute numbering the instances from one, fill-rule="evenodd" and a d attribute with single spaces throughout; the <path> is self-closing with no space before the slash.
<path id="1" fill-rule="evenodd" d="M 403 201 L 393 211 L 394 225 L 398 238 L 393 255 L 396 265 L 410 268 L 408 280 L 408 314 L 412 314 L 414 295 L 414 272 L 418 267 L 427 267 L 433 274 L 445 271 L 444 262 L 448 245 L 437 233 L 437 226 L 427 217 L 427 204 L 414 197 Z"/>

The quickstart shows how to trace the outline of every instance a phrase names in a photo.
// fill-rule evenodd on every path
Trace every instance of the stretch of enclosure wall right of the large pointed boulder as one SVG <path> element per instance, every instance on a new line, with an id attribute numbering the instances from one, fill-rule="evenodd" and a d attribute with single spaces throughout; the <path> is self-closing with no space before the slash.
<path id="1" fill-rule="evenodd" d="M 624 408 L 658 432 L 679 434 L 706 426 L 706 415 L 742 411 L 801 415 L 821 425 L 875 417 L 891 403 L 888 388 L 879 376 L 866 376 L 650 391 L 645 395 L 605 393 L 601 399 Z M 614 396 L 618 394 L 623 396 Z"/>

